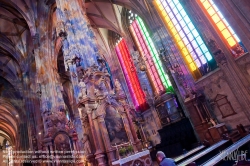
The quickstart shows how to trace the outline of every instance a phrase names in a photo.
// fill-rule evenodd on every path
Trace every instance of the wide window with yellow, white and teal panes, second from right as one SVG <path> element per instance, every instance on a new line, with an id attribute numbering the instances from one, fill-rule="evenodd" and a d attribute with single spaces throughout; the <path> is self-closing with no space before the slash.
<path id="1" fill-rule="evenodd" d="M 215 69 L 213 56 L 179 0 L 155 0 L 153 3 L 194 79 Z"/>

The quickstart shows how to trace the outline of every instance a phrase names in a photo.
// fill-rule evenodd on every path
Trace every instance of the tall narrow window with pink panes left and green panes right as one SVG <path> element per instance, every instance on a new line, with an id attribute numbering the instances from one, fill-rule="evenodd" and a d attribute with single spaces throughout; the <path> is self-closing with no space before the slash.
<path id="1" fill-rule="evenodd" d="M 135 16 L 134 19 L 130 21 L 129 30 L 145 62 L 147 71 L 152 78 L 151 80 L 156 89 L 156 93 L 160 94 L 162 91 L 165 91 L 165 89 L 167 92 L 173 91 L 172 84 L 164 71 L 160 56 L 149 36 L 149 31 L 144 21 L 139 16 Z"/>

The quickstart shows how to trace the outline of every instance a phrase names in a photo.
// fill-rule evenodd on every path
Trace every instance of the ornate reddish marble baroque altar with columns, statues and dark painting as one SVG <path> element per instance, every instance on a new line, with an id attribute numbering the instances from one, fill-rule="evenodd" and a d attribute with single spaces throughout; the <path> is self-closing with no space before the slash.
<path id="1" fill-rule="evenodd" d="M 135 153 L 142 145 L 137 138 L 130 112 L 132 108 L 121 84 L 114 87 L 110 74 L 99 66 L 82 70 L 79 81 L 78 111 L 84 138 L 81 140 L 89 165 L 112 165 L 119 159 L 117 145 L 131 143 Z"/>

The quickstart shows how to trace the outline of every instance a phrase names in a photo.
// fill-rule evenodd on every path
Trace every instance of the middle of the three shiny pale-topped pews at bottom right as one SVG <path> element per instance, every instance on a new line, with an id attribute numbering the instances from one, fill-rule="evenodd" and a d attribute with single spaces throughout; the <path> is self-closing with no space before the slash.
<path id="1" fill-rule="evenodd" d="M 228 146 L 232 144 L 231 140 L 221 140 L 218 143 L 210 146 L 209 148 L 203 150 L 202 152 L 196 154 L 195 156 L 181 162 L 178 164 L 179 166 L 186 166 L 193 162 L 195 162 L 197 165 L 200 165 L 201 163 L 204 163 L 211 157 L 213 157 L 215 154 L 218 154 L 220 151 L 224 150 Z"/>

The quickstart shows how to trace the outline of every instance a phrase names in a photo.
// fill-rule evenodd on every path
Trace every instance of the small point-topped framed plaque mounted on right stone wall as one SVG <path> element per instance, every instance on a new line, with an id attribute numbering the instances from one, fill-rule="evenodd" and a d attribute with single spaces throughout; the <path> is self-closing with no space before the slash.
<path id="1" fill-rule="evenodd" d="M 222 115 L 222 118 L 226 118 L 228 116 L 236 114 L 230 101 L 228 101 L 227 96 L 218 94 L 215 97 L 214 102 L 216 103 L 217 107 L 219 108 L 221 115 Z"/>

